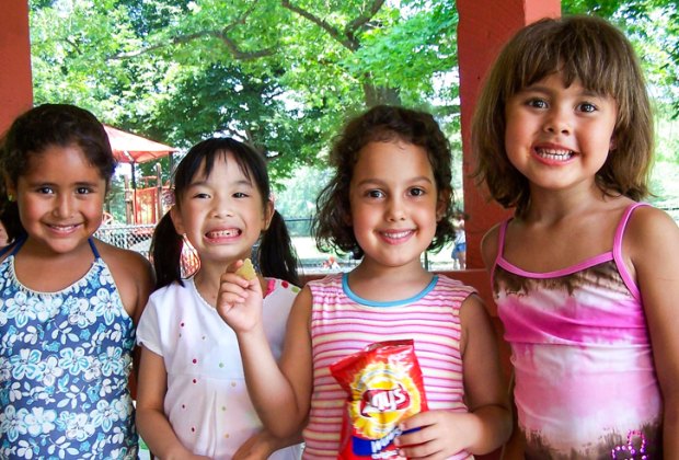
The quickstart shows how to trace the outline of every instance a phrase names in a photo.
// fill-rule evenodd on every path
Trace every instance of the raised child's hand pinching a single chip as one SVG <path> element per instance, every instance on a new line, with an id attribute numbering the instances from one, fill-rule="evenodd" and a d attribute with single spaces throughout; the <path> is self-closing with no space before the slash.
<path id="1" fill-rule="evenodd" d="M 231 264 L 220 277 L 217 312 L 235 332 L 253 330 L 262 319 L 262 286 L 260 278 L 251 280 L 234 272 L 243 261 Z"/>

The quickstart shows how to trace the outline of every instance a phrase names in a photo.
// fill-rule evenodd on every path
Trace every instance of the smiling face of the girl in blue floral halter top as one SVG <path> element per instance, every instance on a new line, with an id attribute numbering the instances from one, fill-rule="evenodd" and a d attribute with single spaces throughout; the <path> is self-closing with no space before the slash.
<path id="1" fill-rule="evenodd" d="M 26 245 L 67 253 L 87 244 L 99 228 L 106 180 L 80 147 L 50 146 L 32 154 L 26 172 L 8 191 L 16 196 Z"/>

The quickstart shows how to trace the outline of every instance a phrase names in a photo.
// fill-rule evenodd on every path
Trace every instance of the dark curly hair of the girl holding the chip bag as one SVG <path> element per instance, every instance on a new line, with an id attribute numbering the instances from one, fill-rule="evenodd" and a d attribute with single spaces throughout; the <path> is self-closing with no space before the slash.
<path id="1" fill-rule="evenodd" d="M 312 222 L 312 233 L 319 250 L 350 253 L 356 258 L 362 256 L 362 249 L 358 245 L 349 222 L 349 184 L 354 166 L 366 145 L 392 140 L 425 149 L 437 193 L 448 191 L 452 197 L 450 142 L 434 117 L 426 112 L 399 106 L 375 106 L 348 122 L 330 152 L 334 175 L 317 199 L 317 215 Z M 454 237 L 451 225 L 453 208 L 453 199 L 450 199 L 446 204 L 445 216 L 437 223 L 436 234 L 428 250 L 439 251 Z"/>

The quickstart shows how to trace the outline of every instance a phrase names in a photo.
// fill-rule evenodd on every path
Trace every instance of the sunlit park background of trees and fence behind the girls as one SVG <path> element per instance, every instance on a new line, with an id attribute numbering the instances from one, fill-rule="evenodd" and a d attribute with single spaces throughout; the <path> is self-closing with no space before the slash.
<path id="1" fill-rule="evenodd" d="M 633 42 L 657 120 L 651 202 L 679 220 L 679 11 L 676 0 L 564 0 Z M 454 0 L 30 0 L 33 99 L 73 103 L 110 126 L 177 152 L 122 164 L 107 202 L 108 239 L 140 252 L 153 222 L 130 219 L 134 187 L 166 186 L 188 147 L 232 136 L 262 150 L 276 206 L 307 269 L 309 222 L 326 153 L 348 116 L 378 103 L 431 112 L 453 151 L 462 208 L 461 104 Z M 469 216 L 474 219 L 474 216 Z M 154 218 L 156 219 L 156 218 Z M 129 225 L 136 229 L 129 229 Z M 105 229 L 104 229 L 105 230 Z M 130 238 L 130 234 L 133 238 Z M 101 234 L 106 238 L 105 233 Z M 343 267 L 352 261 L 342 254 Z M 450 246 L 428 254 L 447 269 Z"/>

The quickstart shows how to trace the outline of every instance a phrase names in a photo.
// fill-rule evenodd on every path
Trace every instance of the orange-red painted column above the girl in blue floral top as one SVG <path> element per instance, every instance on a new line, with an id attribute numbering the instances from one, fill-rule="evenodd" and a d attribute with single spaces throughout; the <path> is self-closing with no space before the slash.
<path id="1" fill-rule="evenodd" d="M 3 2 L 0 14 L 0 133 L 33 105 L 28 2 Z"/>

